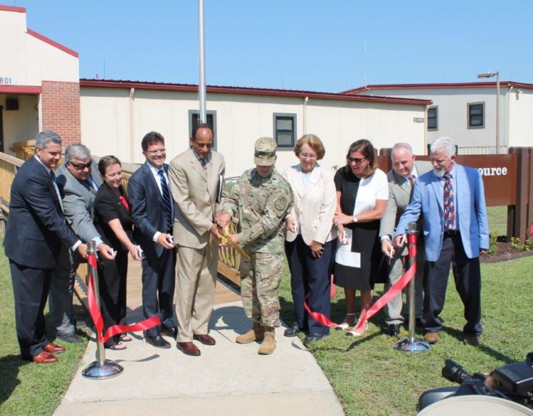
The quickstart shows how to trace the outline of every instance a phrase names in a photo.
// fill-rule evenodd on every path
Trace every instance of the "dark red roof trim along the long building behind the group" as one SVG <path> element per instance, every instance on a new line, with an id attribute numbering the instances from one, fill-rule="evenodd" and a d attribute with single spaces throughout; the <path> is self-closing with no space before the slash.
<path id="1" fill-rule="evenodd" d="M 144 90 L 167 90 L 197 92 L 198 85 L 194 84 L 170 84 L 170 83 L 146 83 L 140 81 L 106 81 L 99 79 L 81 79 L 80 87 L 102 87 L 102 88 L 138 88 Z M 270 95 L 275 97 L 309 97 L 314 99 L 335 99 L 344 101 L 371 101 L 380 103 L 396 104 L 414 104 L 417 106 L 429 106 L 431 100 L 409 99 L 409 98 L 392 98 L 376 97 L 366 95 L 348 95 L 336 94 L 332 92 L 311 92 L 295 90 L 276 90 L 267 88 L 244 88 L 244 87 L 225 87 L 219 85 L 208 85 L 207 92 L 220 94 L 251 94 L 251 95 Z"/>

